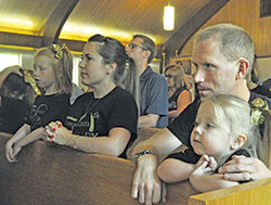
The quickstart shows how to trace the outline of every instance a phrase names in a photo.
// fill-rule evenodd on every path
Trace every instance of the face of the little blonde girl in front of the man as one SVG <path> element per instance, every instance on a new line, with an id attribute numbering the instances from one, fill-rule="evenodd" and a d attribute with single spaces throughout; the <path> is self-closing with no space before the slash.
<path id="1" fill-rule="evenodd" d="M 231 150 L 230 125 L 224 121 L 219 125 L 214 112 L 212 104 L 202 103 L 199 105 L 195 127 L 191 133 L 191 144 L 196 154 L 207 154 L 219 159 Z"/>

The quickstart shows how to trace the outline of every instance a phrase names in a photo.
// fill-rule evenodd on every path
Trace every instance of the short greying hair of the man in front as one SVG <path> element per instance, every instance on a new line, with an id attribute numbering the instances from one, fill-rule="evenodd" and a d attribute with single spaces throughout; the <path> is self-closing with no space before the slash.
<path id="1" fill-rule="evenodd" d="M 248 34 L 241 27 L 232 24 L 218 24 L 199 30 L 196 42 L 216 37 L 220 42 L 219 50 L 228 61 L 237 61 L 244 57 L 249 62 L 246 78 L 249 76 L 254 64 L 254 42 Z"/>

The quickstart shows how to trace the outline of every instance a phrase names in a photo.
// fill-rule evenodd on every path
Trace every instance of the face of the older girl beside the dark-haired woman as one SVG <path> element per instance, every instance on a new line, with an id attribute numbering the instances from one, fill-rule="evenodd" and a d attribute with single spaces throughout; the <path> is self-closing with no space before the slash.
<path id="1" fill-rule="evenodd" d="M 53 91 L 56 88 L 56 78 L 51 64 L 51 57 L 37 55 L 34 64 L 34 78 L 39 88 Z"/>

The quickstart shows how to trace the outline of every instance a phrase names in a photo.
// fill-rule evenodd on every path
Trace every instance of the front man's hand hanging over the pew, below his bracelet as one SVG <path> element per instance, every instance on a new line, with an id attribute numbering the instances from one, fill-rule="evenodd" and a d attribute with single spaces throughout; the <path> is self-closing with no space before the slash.
<path id="1" fill-rule="evenodd" d="M 138 158 L 138 168 L 133 176 L 131 195 L 146 205 L 158 203 L 162 197 L 162 182 L 156 174 L 157 158 L 146 154 Z"/>

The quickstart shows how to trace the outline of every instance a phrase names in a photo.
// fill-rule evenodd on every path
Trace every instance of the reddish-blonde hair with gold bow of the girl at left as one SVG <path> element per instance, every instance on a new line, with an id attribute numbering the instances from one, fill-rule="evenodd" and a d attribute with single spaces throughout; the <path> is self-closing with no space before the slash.
<path id="1" fill-rule="evenodd" d="M 70 94 L 73 89 L 73 55 L 69 49 L 65 44 L 52 44 L 39 49 L 35 57 L 38 55 L 51 57 L 55 76 L 61 74 L 61 77 L 56 77 L 57 93 Z"/>

